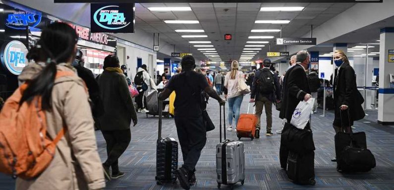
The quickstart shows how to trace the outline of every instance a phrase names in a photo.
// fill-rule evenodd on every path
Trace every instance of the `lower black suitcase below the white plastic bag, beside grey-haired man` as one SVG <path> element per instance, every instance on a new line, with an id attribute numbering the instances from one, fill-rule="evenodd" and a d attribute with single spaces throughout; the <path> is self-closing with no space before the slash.
<path id="1" fill-rule="evenodd" d="M 288 152 L 287 177 L 295 184 L 315 185 L 315 152 Z"/>

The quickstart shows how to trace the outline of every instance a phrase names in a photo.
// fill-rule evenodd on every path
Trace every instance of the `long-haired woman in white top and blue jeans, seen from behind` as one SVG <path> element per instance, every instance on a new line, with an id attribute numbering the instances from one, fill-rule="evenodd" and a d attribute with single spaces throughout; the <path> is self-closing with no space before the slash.
<path id="1" fill-rule="evenodd" d="M 239 118 L 239 109 L 243 100 L 242 93 L 238 90 L 238 78 L 244 77 L 241 71 L 238 71 L 239 64 L 237 61 L 232 61 L 231 72 L 225 76 L 225 87 L 227 88 L 228 99 L 228 123 L 227 131 L 236 130 Z M 232 117 L 235 117 L 235 125 L 232 125 Z"/>

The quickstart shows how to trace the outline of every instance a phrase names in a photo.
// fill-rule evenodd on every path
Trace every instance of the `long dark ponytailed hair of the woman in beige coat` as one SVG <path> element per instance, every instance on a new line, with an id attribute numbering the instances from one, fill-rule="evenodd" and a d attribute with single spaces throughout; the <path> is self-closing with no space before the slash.
<path id="1" fill-rule="evenodd" d="M 74 29 L 65 23 L 53 23 L 41 33 L 41 39 L 26 55 L 27 59 L 44 61 L 46 66 L 32 80 L 23 92 L 19 105 L 30 103 L 34 96 L 42 96 L 42 109 L 51 110 L 51 94 L 56 77 L 56 65 L 66 63 L 75 57 L 78 36 Z"/>

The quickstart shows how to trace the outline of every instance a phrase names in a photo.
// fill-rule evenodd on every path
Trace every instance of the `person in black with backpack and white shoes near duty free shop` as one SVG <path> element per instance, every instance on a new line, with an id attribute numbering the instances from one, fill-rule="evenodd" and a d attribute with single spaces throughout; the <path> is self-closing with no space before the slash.
<path id="1" fill-rule="evenodd" d="M 137 74 L 134 77 L 134 84 L 137 85 L 137 90 L 139 95 L 135 97 L 135 101 L 137 102 L 138 112 L 147 113 L 148 110 L 146 107 L 146 95 L 145 92 L 149 91 L 151 86 L 151 76 L 147 72 L 146 65 L 142 65 L 138 68 Z"/>

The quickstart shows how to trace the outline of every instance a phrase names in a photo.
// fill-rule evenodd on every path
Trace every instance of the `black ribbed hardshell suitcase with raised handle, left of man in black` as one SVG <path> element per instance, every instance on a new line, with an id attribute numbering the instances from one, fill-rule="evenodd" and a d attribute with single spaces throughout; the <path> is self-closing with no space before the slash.
<path id="1" fill-rule="evenodd" d="M 176 183 L 175 170 L 178 168 L 178 142 L 173 138 L 162 138 L 162 101 L 159 101 L 159 138 L 156 147 L 157 184 Z"/>

